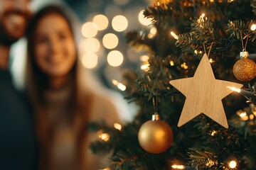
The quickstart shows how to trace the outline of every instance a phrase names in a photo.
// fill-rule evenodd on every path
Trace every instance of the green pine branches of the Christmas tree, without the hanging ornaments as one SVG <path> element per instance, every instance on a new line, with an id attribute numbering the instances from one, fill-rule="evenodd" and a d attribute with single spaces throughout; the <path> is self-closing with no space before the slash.
<path id="1" fill-rule="evenodd" d="M 156 28 L 156 35 L 149 36 L 148 30 L 132 31 L 127 33 L 127 42 L 148 52 L 149 69 L 124 74 L 127 98 L 137 103 L 139 111 L 121 131 L 98 128 L 109 133 L 110 140 L 92 145 L 95 152 L 112 150 L 112 169 L 170 169 L 170 164 L 177 160 L 195 169 L 228 170 L 231 160 L 238 164 L 236 169 L 255 168 L 255 106 L 245 108 L 243 96 L 230 95 L 223 99 L 230 128 L 221 127 L 203 114 L 178 128 L 186 98 L 169 84 L 171 79 L 193 77 L 203 53 L 208 53 L 210 47 L 215 78 L 238 81 L 233 76 L 233 64 L 242 51 L 241 39 L 247 40 L 250 53 L 256 52 L 256 32 L 250 29 L 255 21 L 255 6 L 255 0 L 174 0 L 145 9 L 144 16 L 151 18 L 150 27 Z M 171 31 L 178 34 L 177 40 L 170 35 Z M 255 86 L 249 89 L 255 94 Z M 162 154 L 149 154 L 139 146 L 137 133 L 151 119 L 151 98 L 156 96 L 159 115 L 171 126 L 174 142 Z M 254 103 L 253 99 L 250 103 Z M 242 109 L 247 120 L 235 115 Z"/>

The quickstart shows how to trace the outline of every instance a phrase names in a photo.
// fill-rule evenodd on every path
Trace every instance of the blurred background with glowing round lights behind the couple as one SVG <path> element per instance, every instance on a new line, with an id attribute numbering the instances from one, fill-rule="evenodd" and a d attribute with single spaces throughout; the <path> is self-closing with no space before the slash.
<path id="1" fill-rule="evenodd" d="M 124 91 L 122 72 L 124 69 L 145 69 L 146 53 L 129 47 L 125 35 L 131 30 L 151 29 L 150 19 L 144 18 L 144 8 L 150 0 L 33 0 L 31 8 L 38 10 L 48 3 L 65 4 L 79 23 L 78 49 L 81 61 L 110 89 Z M 25 45 L 25 47 L 24 47 Z M 26 40 L 20 40 L 11 50 L 11 71 L 18 89 L 23 87 L 23 70 L 26 60 Z"/>

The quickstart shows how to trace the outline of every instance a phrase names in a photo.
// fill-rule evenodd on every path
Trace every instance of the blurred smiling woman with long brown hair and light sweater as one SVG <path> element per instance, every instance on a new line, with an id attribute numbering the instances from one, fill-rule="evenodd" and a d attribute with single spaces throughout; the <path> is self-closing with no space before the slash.
<path id="1" fill-rule="evenodd" d="M 111 95 L 81 76 L 73 27 L 63 8 L 51 5 L 38 11 L 27 38 L 26 91 L 36 115 L 40 169 L 104 169 L 106 155 L 89 150 L 97 134 L 87 125 L 100 119 L 119 123 L 119 111 Z"/>

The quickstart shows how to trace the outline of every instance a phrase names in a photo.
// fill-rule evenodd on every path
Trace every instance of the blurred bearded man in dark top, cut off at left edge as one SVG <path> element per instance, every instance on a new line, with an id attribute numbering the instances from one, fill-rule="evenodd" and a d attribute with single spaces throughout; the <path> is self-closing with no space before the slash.
<path id="1" fill-rule="evenodd" d="M 36 135 L 26 99 L 11 82 L 11 45 L 23 36 L 31 16 L 29 0 L 0 0 L 0 169 L 36 169 Z M 18 56 L 15 56 L 18 57 Z"/>

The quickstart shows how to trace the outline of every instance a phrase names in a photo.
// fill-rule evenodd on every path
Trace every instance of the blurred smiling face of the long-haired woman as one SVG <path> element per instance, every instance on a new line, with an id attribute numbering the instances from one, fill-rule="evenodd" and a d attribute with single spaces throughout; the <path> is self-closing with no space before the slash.
<path id="1" fill-rule="evenodd" d="M 68 23 L 58 14 L 41 18 L 36 26 L 35 57 L 50 78 L 67 75 L 76 61 L 75 41 Z"/>

